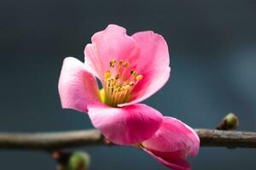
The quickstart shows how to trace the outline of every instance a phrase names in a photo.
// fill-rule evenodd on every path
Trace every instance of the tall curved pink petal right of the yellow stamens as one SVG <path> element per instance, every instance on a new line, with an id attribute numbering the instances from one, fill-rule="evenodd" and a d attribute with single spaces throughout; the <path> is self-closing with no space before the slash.
<path id="1" fill-rule="evenodd" d="M 119 106 L 131 105 L 147 99 L 162 88 L 170 77 L 170 59 L 165 39 L 154 31 L 137 32 L 132 38 L 137 42 L 140 50 L 136 69 L 143 75 L 143 80 L 133 89 L 131 102 Z"/>

